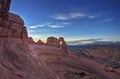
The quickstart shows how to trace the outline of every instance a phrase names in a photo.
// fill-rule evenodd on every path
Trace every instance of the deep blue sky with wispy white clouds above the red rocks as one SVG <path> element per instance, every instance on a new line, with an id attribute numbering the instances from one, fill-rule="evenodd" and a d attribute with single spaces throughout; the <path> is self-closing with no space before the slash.
<path id="1" fill-rule="evenodd" d="M 73 43 L 120 41 L 119 4 L 120 0 L 12 0 L 10 12 L 24 19 L 28 35 L 36 40 L 54 36 Z"/>

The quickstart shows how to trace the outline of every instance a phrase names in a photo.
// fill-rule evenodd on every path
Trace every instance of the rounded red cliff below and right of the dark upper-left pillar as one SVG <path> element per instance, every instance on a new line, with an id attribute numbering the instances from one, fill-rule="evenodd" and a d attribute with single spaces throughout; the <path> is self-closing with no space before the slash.
<path id="1" fill-rule="evenodd" d="M 8 13 L 5 26 L 0 26 L 0 37 L 28 39 L 27 29 L 20 16 Z"/>

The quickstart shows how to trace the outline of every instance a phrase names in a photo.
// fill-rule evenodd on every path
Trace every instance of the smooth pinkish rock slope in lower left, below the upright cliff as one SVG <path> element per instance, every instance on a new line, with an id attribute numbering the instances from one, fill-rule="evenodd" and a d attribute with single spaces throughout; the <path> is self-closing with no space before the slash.
<path id="1" fill-rule="evenodd" d="M 0 37 L 0 45 L 0 79 L 55 79 L 21 39 Z"/>

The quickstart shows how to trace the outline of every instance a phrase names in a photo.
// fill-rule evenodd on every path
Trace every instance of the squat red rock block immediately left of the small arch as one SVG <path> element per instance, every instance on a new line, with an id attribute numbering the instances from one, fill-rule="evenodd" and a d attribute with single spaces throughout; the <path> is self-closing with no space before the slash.
<path id="1" fill-rule="evenodd" d="M 49 46 L 59 47 L 58 39 L 55 37 L 48 37 L 46 44 Z"/>

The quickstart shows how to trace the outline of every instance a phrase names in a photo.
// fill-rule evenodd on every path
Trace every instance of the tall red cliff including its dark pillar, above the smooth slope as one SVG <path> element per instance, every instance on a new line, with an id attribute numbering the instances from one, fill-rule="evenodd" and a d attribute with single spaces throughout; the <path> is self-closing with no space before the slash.
<path id="1" fill-rule="evenodd" d="M 0 0 L 0 37 L 27 39 L 27 30 L 20 16 L 9 13 L 11 0 Z"/>

